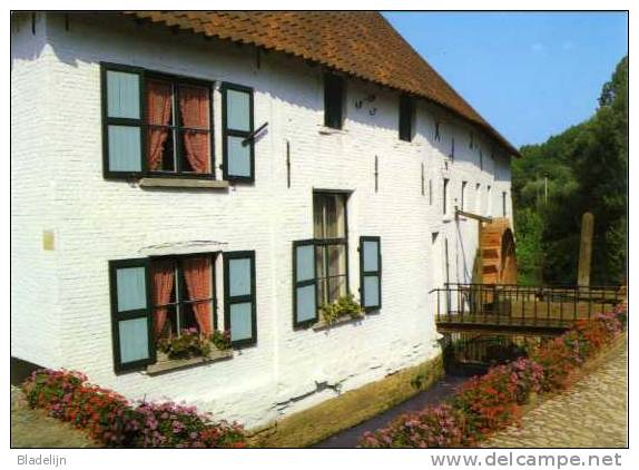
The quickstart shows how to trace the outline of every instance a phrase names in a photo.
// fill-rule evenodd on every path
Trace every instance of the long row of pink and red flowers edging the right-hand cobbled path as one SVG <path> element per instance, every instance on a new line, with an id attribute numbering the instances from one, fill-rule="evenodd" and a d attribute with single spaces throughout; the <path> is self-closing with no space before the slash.
<path id="1" fill-rule="evenodd" d="M 517 422 L 531 393 L 570 385 L 577 369 L 623 330 L 625 304 L 578 321 L 563 335 L 531 350 L 529 358 L 493 366 L 460 386 L 448 403 L 406 413 L 385 428 L 366 432 L 361 447 L 461 447 Z"/>

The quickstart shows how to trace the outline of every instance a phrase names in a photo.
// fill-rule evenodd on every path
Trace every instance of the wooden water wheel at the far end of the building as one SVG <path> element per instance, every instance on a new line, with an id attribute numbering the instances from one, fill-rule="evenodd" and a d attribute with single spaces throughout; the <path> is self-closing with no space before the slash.
<path id="1" fill-rule="evenodd" d="M 514 237 L 508 217 L 484 222 L 480 228 L 482 284 L 517 284 Z"/>

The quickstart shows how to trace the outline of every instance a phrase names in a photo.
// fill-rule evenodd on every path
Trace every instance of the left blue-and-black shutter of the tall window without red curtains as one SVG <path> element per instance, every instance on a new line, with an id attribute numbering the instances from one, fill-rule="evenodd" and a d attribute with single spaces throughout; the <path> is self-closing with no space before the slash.
<path id="1" fill-rule="evenodd" d="M 293 242 L 293 326 L 317 322 L 315 241 Z"/>

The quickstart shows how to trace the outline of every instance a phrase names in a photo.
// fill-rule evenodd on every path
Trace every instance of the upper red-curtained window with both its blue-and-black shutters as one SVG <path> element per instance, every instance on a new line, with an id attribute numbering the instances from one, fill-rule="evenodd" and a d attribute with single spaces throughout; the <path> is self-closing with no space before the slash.
<path id="1" fill-rule="evenodd" d="M 224 177 L 253 180 L 253 92 L 233 88 L 222 109 Z M 210 81 L 104 63 L 105 176 L 214 178 L 213 111 Z"/>

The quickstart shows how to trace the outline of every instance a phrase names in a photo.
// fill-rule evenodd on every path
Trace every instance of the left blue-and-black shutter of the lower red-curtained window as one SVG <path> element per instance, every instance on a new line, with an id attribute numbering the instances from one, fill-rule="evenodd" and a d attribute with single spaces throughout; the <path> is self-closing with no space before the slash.
<path id="1" fill-rule="evenodd" d="M 115 371 L 156 361 L 148 260 L 109 262 Z"/>

